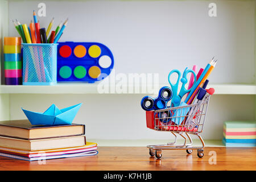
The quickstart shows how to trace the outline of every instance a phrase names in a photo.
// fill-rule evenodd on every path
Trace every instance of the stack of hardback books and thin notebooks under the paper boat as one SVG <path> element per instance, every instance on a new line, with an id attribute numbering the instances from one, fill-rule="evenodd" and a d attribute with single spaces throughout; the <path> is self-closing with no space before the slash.
<path id="1" fill-rule="evenodd" d="M 97 143 L 86 142 L 85 125 L 31 125 L 28 120 L 0 122 L 0 156 L 42 160 L 96 155 Z"/>

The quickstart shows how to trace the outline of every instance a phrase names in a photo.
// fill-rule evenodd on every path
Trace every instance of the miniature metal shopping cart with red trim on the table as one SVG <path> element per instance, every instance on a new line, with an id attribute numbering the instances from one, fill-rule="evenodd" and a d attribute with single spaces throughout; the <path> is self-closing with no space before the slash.
<path id="1" fill-rule="evenodd" d="M 203 131 L 209 99 L 210 95 L 206 94 L 203 100 L 197 104 L 146 111 L 148 128 L 156 131 L 169 131 L 175 136 L 172 143 L 147 146 L 150 149 L 150 155 L 155 155 L 156 158 L 160 159 L 162 150 L 186 150 L 188 154 L 191 154 L 192 150 L 197 150 L 197 156 L 203 158 L 205 144 L 200 133 Z M 177 135 L 184 139 L 184 143 L 176 143 Z M 193 147 L 190 135 L 196 135 L 202 146 Z"/>

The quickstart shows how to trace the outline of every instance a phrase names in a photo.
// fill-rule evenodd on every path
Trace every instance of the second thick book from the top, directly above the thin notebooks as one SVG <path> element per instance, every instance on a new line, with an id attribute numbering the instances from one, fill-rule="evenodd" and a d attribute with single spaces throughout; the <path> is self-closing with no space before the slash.
<path id="1" fill-rule="evenodd" d="M 47 150 L 52 148 L 76 147 L 86 144 L 85 136 L 58 137 L 48 139 L 24 140 L 10 137 L 0 137 L 0 146 L 22 150 Z"/>

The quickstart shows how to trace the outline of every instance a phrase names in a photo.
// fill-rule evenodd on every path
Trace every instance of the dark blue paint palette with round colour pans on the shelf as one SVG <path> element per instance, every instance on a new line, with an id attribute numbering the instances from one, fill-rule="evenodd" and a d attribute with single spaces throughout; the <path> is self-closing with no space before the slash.
<path id="1" fill-rule="evenodd" d="M 107 77 L 114 67 L 108 47 L 92 42 L 60 42 L 57 48 L 57 81 L 93 83 Z"/>

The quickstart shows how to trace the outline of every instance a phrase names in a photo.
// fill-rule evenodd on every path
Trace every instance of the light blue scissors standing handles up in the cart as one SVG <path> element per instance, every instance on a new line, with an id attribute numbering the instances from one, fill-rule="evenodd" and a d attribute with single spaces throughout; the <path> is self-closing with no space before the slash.
<path id="1" fill-rule="evenodd" d="M 178 75 L 176 84 L 172 84 L 172 83 L 171 83 L 170 77 L 171 77 L 172 73 L 177 73 L 177 75 Z M 169 73 L 169 75 L 168 75 L 168 81 L 169 81 L 169 83 L 170 83 L 170 85 L 171 85 L 172 94 L 173 94 L 172 102 L 171 102 L 171 107 L 177 107 L 177 106 L 179 106 L 179 105 L 180 105 L 181 98 L 182 98 L 186 93 L 190 92 L 191 89 L 193 88 L 193 86 L 196 84 L 196 81 L 194 81 L 194 83 L 193 83 L 193 85 L 192 85 L 192 87 L 191 87 L 190 89 L 188 89 L 188 90 L 185 89 L 185 84 L 187 84 L 187 82 L 188 82 L 188 79 L 187 79 L 188 73 L 192 73 L 193 76 L 194 76 L 194 78 L 196 78 L 196 73 L 195 73 L 193 70 L 188 69 L 188 68 L 186 68 L 186 69 L 184 70 L 182 78 L 180 78 L 180 77 L 181 77 L 181 73 L 180 73 L 180 71 L 177 70 L 177 69 L 174 69 L 174 70 L 172 70 L 172 71 Z M 178 86 L 179 86 L 179 82 L 180 82 L 180 81 L 182 82 L 182 85 L 181 85 L 180 93 L 178 94 L 178 93 L 177 93 L 177 90 L 178 90 Z"/>

